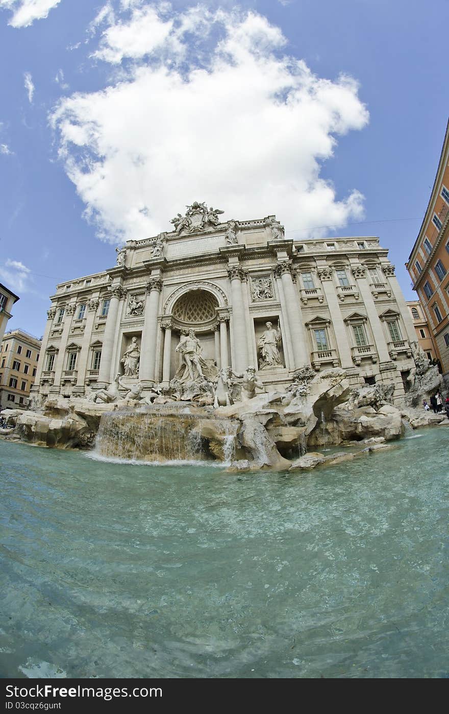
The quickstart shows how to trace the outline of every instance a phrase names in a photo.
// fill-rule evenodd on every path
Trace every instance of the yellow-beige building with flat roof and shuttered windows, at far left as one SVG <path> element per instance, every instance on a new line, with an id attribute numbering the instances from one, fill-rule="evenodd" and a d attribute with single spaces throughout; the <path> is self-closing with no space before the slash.
<path id="1" fill-rule="evenodd" d="M 36 379 L 41 341 L 24 330 L 7 332 L 0 344 L 0 406 L 28 406 Z"/>

